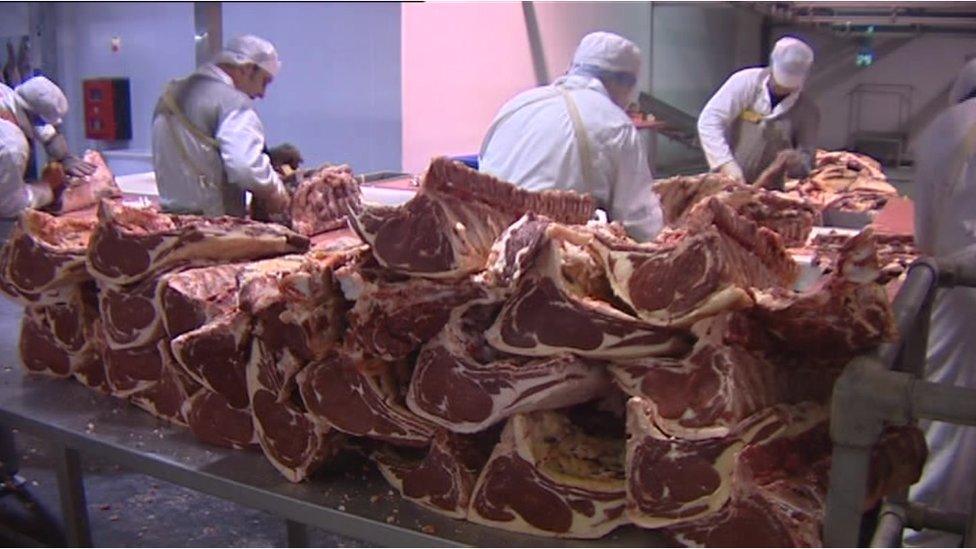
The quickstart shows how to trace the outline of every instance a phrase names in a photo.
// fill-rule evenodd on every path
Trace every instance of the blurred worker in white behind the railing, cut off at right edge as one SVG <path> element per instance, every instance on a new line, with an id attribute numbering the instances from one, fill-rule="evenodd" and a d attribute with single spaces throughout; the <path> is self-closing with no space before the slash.
<path id="1" fill-rule="evenodd" d="M 950 107 L 925 129 L 916 148 L 915 242 L 944 256 L 976 245 L 976 60 L 950 92 Z M 976 389 L 976 289 L 940 289 L 929 325 L 929 381 Z M 922 422 L 929 457 L 910 499 L 969 513 L 976 487 L 976 429 Z M 906 530 L 910 546 L 958 547 L 960 536 Z"/>

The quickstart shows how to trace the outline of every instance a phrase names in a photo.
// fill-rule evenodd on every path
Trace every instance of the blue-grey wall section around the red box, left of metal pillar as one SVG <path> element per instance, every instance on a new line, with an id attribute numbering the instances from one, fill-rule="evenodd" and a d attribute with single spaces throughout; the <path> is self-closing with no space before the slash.
<path id="1" fill-rule="evenodd" d="M 56 9 L 58 74 L 70 111 L 64 123 L 75 150 L 92 146 L 84 137 L 81 81 L 113 76 L 130 80 L 132 140 L 124 158 L 109 157 L 120 175 L 152 169 L 152 111 L 165 84 L 193 70 L 192 3 L 69 3 Z M 118 52 L 113 37 L 121 39 Z M 100 147 L 99 147 L 100 148 Z"/>

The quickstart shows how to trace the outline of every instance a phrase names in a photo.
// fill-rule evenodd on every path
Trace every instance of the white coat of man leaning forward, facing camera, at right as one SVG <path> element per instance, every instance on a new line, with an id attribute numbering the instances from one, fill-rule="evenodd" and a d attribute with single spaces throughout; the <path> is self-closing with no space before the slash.
<path id="1" fill-rule="evenodd" d="M 740 117 L 746 110 L 761 115 L 760 124 L 775 123 L 788 116 L 798 118 L 794 121 L 795 135 L 787 137 L 796 142 L 795 146 L 801 152 L 808 155 L 814 152 L 820 122 L 818 113 L 815 109 L 806 109 L 800 113 L 802 116 L 790 116 L 792 114 L 790 111 L 800 100 L 801 91 L 791 93 L 773 107 L 768 91 L 770 78 L 770 71 L 762 67 L 743 69 L 730 76 L 705 104 L 698 117 L 698 138 L 705 151 L 709 168 L 716 170 L 723 164 L 737 159 L 740 168 L 747 174 L 753 173 L 753 176 L 765 168 L 765 166 L 741 165 L 744 158 L 764 156 L 761 151 L 733 149 L 735 125 L 744 123 Z M 754 142 L 750 146 L 763 145 L 761 142 Z"/>

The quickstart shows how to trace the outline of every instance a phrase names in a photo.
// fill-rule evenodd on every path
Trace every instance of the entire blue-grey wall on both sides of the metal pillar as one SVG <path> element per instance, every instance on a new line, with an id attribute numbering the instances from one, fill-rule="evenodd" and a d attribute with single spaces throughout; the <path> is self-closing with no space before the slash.
<path id="1" fill-rule="evenodd" d="M 256 102 L 269 144 L 294 143 L 307 165 L 400 168 L 399 4 L 224 2 L 222 8 L 225 40 L 257 34 L 281 56 L 281 73 Z M 119 174 L 151 169 L 145 158 L 159 93 L 196 65 L 193 4 L 59 3 L 56 27 L 57 79 L 71 105 L 65 123 L 71 146 L 94 145 L 84 138 L 81 81 L 127 77 L 133 138 L 128 151 L 109 154 L 109 163 Z M 122 40 L 117 53 L 110 49 L 113 36 Z"/>

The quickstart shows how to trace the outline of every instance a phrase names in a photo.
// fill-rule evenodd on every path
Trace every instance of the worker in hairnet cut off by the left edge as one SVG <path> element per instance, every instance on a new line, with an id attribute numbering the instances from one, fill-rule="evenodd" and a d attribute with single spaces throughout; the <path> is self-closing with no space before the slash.
<path id="1" fill-rule="evenodd" d="M 54 82 L 29 78 L 14 89 L 0 84 L 0 217 L 15 217 L 25 208 L 54 201 L 56 189 L 46 183 L 25 183 L 30 140 L 37 139 L 52 160 L 74 176 L 90 175 L 95 167 L 68 151 L 58 132 L 68 100 Z"/>

